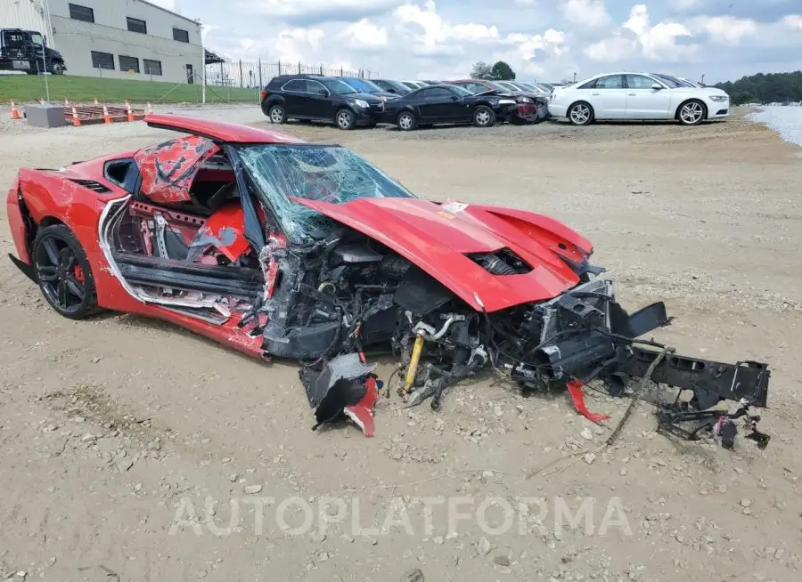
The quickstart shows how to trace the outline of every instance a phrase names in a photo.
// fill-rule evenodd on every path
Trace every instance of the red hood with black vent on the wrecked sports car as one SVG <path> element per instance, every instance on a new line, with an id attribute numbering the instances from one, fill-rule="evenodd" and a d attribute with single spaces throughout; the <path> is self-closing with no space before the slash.
<path id="1" fill-rule="evenodd" d="M 477 311 L 498 311 L 551 299 L 579 279 L 561 260 L 582 261 L 590 243 L 560 222 L 525 211 L 421 198 L 360 198 L 331 204 L 296 198 L 337 222 L 392 248 L 428 272 Z M 532 266 L 523 275 L 498 276 L 465 253 L 510 248 Z"/>

